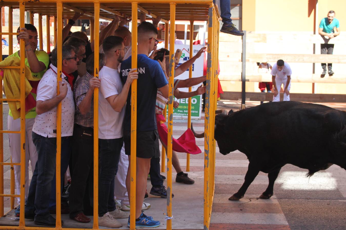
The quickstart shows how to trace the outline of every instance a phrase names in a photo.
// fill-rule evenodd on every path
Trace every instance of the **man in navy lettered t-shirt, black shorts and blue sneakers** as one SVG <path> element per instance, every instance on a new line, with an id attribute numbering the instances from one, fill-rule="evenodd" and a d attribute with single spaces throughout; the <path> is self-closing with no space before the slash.
<path id="1" fill-rule="evenodd" d="M 165 63 L 160 63 L 148 58 L 149 53 L 157 45 L 157 29 L 149 22 L 142 22 L 138 26 L 138 56 L 137 56 L 137 170 L 136 170 L 136 228 L 158 227 L 160 221 L 152 220 L 142 213 L 142 203 L 147 186 L 147 176 L 152 157 L 160 156 L 158 132 L 156 126 L 155 103 L 156 93 L 160 90 L 162 95 L 168 98 L 169 88 L 165 69 Z M 126 82 L 127 75 L 131 70 L 131 56 L 121 63 L 120 77 Z M 125 118 L 124 118 L 124 143 L 125 153 L 131 151 L 131 90 L 129 91 Z M 130 157 L 130 156 L 129 156 Z M 126 178 L 126 188 L 130 197 L 130 168 Z M 132 205 L 132 204 L 130 204 Z M 128 222 L 128 226 L 130 223 Z"/>

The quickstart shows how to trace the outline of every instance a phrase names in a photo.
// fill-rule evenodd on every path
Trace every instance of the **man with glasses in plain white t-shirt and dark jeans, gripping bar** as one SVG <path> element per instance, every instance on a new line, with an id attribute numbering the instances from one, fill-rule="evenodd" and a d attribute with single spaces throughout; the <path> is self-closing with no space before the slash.
<path id="1" fill-rule="evenodd" d="M 99 73 L 99 226 L 119 228 L 122 224 L 113 215 L 116 212 L 114 177 L 124 144 L 124 106 L 131 82 L 138 78 L 138 73 L 132 69 L 122 86 L 118 66 L 126 50 L 123 39 L 109 36 L 104 39 L 102 47 L 106 54 L 106 64 Z"/>

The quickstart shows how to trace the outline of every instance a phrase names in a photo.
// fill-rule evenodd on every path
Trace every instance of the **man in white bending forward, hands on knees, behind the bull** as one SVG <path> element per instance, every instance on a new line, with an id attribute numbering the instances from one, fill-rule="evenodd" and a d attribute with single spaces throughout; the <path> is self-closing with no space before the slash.
<path id="1" fill-rule="evenodd" d="M 291 89 L 291 74 L 292 70 L 287 62 L 283 60 L 277 60 L 272 68 L 272 81 L 274 88 L 273 101 L 280 101 L 280 89 L 283 84 L 283 100 L 290 100 L 290 89 Z"/>

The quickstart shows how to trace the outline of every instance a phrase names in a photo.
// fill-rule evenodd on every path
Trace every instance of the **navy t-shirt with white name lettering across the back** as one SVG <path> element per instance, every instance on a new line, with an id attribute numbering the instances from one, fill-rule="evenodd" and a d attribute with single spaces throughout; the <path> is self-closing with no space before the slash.
<path id="1" fill-rule="evenodd" d="M 128 72 L 131 70 L 131 56 L 121 63 L 120 77 L 125 84 Z M 168 84 L 160 64 L 148 58 L 145 54 L 137 56 L 137 131 L 152 131 L 157 129 L 155 103 L 157 89 Z M 124 132 L 131 130 L 131 89 L 125 109 Z"/>

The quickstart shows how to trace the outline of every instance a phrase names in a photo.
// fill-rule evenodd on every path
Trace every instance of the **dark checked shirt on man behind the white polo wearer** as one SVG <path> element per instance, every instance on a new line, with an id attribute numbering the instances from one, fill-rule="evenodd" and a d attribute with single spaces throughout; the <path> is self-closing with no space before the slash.
<path id="1" fill-rule="evenodd" d="M 79 78 L 74 83 L 74 102 L 76 104 L 76 110 L 74 114 L 74 123 L 79 124 L 80 126 L 93 128 L 94 127 L 94 97 L 91 99 L 91 107 L 88 113 L 83 115 L 79 111 L 79 105 L 82 102 L 82 100 L 85 98 L 86 93 L 89 90 L 90 87 L 90 79 L 92 79 L 94 76 L 92 76 L 90 73 L 86 72 L 85 75 L 81 78 Z"/>

